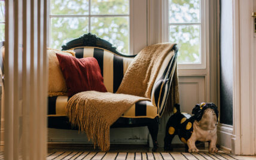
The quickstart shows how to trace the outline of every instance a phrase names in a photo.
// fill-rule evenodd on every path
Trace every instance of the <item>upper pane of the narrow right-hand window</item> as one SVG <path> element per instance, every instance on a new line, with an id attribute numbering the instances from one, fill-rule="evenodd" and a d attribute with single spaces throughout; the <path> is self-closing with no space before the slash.
<path id="1" fill-rule="evenodd" d="M 169 0 L 169 23 L 200 23 L 200 0 Z"/>

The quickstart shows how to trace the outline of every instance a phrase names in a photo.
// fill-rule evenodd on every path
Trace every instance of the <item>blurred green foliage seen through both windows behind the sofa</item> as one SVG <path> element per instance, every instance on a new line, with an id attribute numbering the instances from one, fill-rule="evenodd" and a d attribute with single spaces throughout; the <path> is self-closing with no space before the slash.
<path id="1" fill-rule="evenodd" d="M 129 54 L 129 0 L 91 0 L 90 5 L 89 10 L 89 0 L 51 0 L 50 47 L 61 49 L 90 30 Z M 179 45 L 178 62 L 200 63 L 200 0 L 169 0 L 169 23 L 169 41 Z"/>

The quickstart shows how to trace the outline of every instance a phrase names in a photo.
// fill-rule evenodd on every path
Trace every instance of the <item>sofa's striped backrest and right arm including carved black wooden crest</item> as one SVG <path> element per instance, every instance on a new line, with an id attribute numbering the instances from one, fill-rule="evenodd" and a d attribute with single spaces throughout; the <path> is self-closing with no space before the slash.
<path id="1" fill-rule="evenodd" d="M 135 56 L 119 53 L 108 41 L 87 33 L 62 45 L 62 50 L 74 50 L 77 58 L 95 57 L 103 75 L 106 90 L 115 93 L 121 84 L 124 73 Z M 174 56 L 173 56 L 174 52 Z M 176 68 L 178 46 L 174 45 L 164 62 L 161 64 L 156 81 L 151 91 L 151 101 L 158 108 L 161 116 L 166 106 L 167 97 Z"/>

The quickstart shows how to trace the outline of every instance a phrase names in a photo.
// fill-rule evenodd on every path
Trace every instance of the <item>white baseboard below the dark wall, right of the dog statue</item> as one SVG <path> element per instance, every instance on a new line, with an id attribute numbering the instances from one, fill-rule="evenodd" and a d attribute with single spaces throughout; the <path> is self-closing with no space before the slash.
<path id="1" fill-rule="evenodd" d="M 217 126 L 217 144 L 220 149 L 231 152 L 232 149 L 232 137 L 233 137 L 233 126 L 226 124 L 218 124 Z"/>

